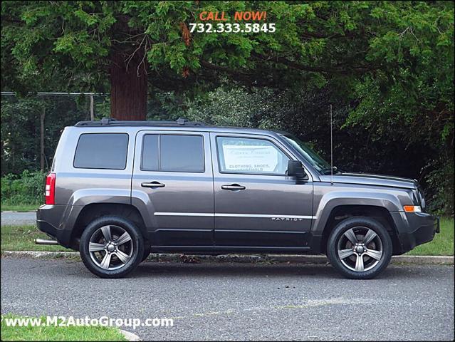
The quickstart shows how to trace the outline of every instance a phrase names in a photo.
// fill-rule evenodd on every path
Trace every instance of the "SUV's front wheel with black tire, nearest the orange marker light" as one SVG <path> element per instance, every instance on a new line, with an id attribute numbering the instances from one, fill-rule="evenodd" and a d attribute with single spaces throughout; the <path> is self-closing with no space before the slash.
<path id="1" fill-rule="evenodd" d="M 353 230 L 350 231 L 350 229 Z M 369 232 L 370 229 L 372 232 Z M 351 240 L 354 239 L 352 234 L 350 234 L 351 232 L 354 233 L 356 244 L 351 242 Z M 370 234 L 370 237 L 374 236 L 373 232 L 376 236 L 372 239 L 370 244 L 365 246 L 365 237 L 367 237 L 367 234 Z M 350 251 L 350 249 L 352 249 L 352 251 Z M 343 253 L 343 251 L 345 252 Z M 352 217 L 343 220 L 330 233 L 327 242 L 327 256 L 330 260 L 330 264 L 332 264 L 342 276 L 349 279 L 375 278 L 375 276 L 378 276 L 384 271 L 389 264 L 390 258 L 392 257 L 392 251 L 392 239 L 390 238 L 387 229 L 385 229 L 380 222 L 377 222 L 377 220 L 371 219 L 370 217 Z M 379 252 L 381 252 L 381 254 L 379 254 Z M 342 258 L 344 255 L 348 256 Z M 374 255 L 375 257 L 370 257 L 370 255 Z M 359 258 L 361 258 L 362 261 L 360 261 Z M 365 259 L 370 263 L 370 266 L 365 265 Z"/>

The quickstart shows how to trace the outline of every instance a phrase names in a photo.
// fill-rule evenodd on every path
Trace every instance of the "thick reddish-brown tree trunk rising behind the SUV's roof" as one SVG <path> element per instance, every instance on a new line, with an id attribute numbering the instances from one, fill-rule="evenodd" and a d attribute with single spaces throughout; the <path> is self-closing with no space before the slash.
<path id="1" fill-rule="evenodd" d="M 110 117 L 117 120 L 145 120 L 147 115 L 147 58 L 136 51 L 113 53 L 110 64 Z M 145 63 L 145 64 L 144 64 Z"/>

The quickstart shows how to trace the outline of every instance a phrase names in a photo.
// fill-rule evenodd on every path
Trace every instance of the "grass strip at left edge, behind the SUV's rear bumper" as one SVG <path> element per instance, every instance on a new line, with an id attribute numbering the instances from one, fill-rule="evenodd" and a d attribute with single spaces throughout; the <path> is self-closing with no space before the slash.
<path id="1" fill-rule="evenodd" d="M 72 251 L 59 245 L 35 244 L 36 238 L 50 238 L 32 224 L 25 226 L 1 226 L 0 230 L 2 251 Z"/>

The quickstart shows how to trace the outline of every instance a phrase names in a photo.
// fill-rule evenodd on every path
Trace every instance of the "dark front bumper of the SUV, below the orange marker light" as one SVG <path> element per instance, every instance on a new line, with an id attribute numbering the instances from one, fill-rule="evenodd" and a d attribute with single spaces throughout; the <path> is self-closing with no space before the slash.
<path id="1" fill-rule="evenodd" d="M 397 227 L 400 249 L 395 254 L 402 254 L 414 249 L 419 244 L 432 241 L 439 233 L 439 217 L 424 212 L 391 212 Z"/>

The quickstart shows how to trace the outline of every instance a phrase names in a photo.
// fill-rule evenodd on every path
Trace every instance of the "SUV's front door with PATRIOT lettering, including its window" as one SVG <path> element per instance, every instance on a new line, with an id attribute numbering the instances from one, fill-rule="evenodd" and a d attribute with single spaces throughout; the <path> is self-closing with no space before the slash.
<path id="1" fill-rule="evenodd" d="M 210 135 L 216 246 L 308 249 L 313 182 L 286 175 L 295 159 L 286 147 L 265 135 Z"/>

